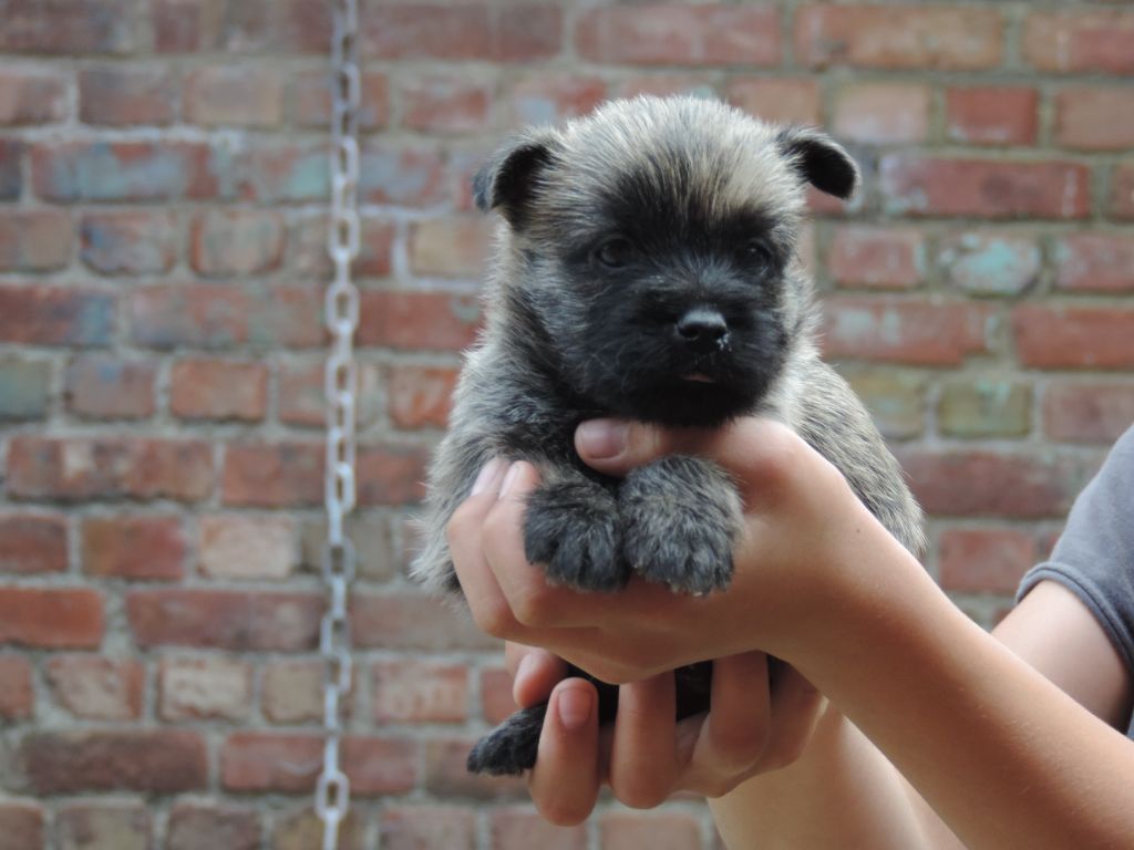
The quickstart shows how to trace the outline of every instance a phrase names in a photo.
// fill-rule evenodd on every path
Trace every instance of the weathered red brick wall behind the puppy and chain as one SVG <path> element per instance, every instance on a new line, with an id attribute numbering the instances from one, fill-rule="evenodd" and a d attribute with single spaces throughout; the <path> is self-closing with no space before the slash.
<path id="1" fill-rule="evenodd" d="M 0 848 L 311 848 L 322 596 L 315 0 L 0 2 Z M 364 553 L 345 845 L 708 850 L 703 808 L 534 817 L 464 774 L 498 646 L 405 578 L 477 323 L 500 134 L 635 92 L 829 127 L 831 359 L 982 622 L 1134 419 L 1123 2 L 365 0 Z"/>

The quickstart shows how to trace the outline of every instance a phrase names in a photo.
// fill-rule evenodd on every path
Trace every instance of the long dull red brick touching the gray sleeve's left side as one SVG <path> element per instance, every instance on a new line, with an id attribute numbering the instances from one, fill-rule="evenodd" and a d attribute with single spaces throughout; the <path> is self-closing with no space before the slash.
<path id="1" fill-rule="evenodd" d="M 899 451 L 898 459 L 922 508 L 949 517 L 1060 518 L 1095 469 L 1050 451 L 926 449 Z"/>

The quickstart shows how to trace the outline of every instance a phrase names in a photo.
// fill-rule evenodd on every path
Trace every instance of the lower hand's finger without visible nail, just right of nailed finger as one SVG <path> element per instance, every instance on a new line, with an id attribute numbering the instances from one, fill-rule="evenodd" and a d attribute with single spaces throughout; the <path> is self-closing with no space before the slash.
<path id="1" fill-rule="evenodd" d="M 610 788 L 633 808 L 652 808 L 674 790 L 676 687 L 672 671 L 624 685 L 610 754 Z"/>

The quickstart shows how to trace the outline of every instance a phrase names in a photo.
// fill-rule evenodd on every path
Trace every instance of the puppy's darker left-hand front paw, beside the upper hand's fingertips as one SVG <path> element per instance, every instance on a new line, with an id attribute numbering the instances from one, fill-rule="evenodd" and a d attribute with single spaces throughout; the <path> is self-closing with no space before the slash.
<path id="1" fill-rule="evenodd" d="M 552 581 L 582 590 L 617 590 L 629 577 L 617 502 L 589 481 L 555 482 L 532 492 L 524 554 L 543 564 Z"/>

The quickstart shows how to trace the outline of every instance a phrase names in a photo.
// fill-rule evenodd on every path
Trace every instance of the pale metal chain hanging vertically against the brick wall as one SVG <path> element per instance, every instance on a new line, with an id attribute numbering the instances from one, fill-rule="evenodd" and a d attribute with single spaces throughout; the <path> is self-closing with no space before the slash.
<path id="1" fill-rule="evenodd" d="M 358 220 L 358 8 L 356 0 L 332 0 L 331 36 L 331 213 L 327 250 L 335 278 L 325 292 L 331 333 L 323 389 L 327 394 L 327 542 L 322 570 L 327 611 L 319 630 L 323 655 L 323 771 L 315 783 L 315 814 L 323 822 L 323 850 L 337 850 L 339 825 L 350 805 L 350 782 L 339 766 L 342 705 L 350 691 L 350 622 L 347 594 L 355 576 L 355 549 L 342 524 L 355 505 L 354 332 L 358 328 L 358 290 L 350 264 L 362 239 Z"/>

